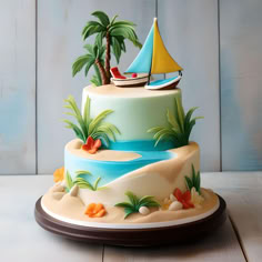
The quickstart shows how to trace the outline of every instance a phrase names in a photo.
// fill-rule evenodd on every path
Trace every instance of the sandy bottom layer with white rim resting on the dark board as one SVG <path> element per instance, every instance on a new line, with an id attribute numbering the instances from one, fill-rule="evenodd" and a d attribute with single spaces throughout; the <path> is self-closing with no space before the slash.
<path id="1" fill-rule="evenodd" d="M 84 214 L 85 205 L 81 199 L 66 192 L 61 192 L 58 198 L 56 192 L 49 191 L 43 195 L 41 205 L 49 215 L 72 224 L 111 229 L 142 229 L 184 224 L 211 215 L 219 209 L 219 198 L 208 189 L 201 189 L 201 193 L 204 201 L 198 208 L 170 211 L 160 206 L 151 209 L 148 215 L 133 213 L 128 219 L 124 219 L 123 210 L 117 206 L 109 206 L 107 215 L 103 218 L 89 218 Z"/>

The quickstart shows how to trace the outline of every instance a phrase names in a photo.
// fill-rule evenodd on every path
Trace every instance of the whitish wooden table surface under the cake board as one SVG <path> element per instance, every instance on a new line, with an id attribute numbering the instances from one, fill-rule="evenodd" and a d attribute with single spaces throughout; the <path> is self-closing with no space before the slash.
<path id="1" fill-rule="evenodd" d="M 262 261 L 262 172 L 202 173 L 226 203 L 230 219 L 195 244 L 115 248 L 74 242 L 44 231 L 34 203 L 52 184 L 51 175 L 0 175 L 0 261 Z"/>

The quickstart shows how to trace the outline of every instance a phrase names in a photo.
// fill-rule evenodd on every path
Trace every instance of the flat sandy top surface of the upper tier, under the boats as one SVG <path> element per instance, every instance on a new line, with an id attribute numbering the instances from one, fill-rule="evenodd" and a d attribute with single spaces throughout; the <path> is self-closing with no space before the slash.
<path id="1" fill-rule="evenodd" d="M 169 97 L 180 92 L 180 89 L 172 90 L 147 90 L 141 88 L 118 88 L 114 84 L 105 84 L 101 87 L 88 85 L 84 91 L 89 95 L 103 95 L 103 97 L 115 97 L 115 98 L 155 98 L 155 97 Z"/>

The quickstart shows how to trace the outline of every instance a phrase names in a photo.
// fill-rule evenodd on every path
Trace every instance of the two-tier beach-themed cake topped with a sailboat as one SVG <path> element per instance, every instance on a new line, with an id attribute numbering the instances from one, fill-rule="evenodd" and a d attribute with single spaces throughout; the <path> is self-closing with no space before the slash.
<path id="1" fill-rule="evenodd" d="M 131 235 L 130 230 L 178 230 L 214 219 L 221 200 L 201 188 L 200 149 L 190 141 L 200 118 L 192 117 L 196 108 L 184 112 L 182 91 L 175 88 L 181 70 L 164 48 L 154 20 L 127 70 L 132 77 L 112 68 L 111 83 L 83 89 L 81 109 L 73 97 L 66 100 L 68 114 L 75 121 L 64 122 L 75 139 L 67 143 L 64 167 L 54 172 L 54 185 L 38 203 L 46 215 L 46 223 L 37 215 L 41 225 L 50 230 L 47 221 L 52 220 L 58 228 L 87 229 L 85 236 L 90 229 L 114 230 L 117 235 L 124 230 Z M 151 79 L 151 73 L 173 71 L 179 75 Z M 213 222 L 213 228 L 222 220 Z M 74 236 L 70 232 L 64 235 Z M 115 238 L 125 238 L 129 244 L 129 235 Z"/>

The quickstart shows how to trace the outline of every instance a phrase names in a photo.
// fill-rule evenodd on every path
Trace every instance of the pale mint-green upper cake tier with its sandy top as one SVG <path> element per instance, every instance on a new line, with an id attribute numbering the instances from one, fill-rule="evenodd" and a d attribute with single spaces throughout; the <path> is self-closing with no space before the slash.
<path id="1" fill-rule="evenodd" d="M 117 88 L 113 84 L 87 87 L 82 93 L 82 109 L 91 99 L 91 118 L 103 110 L 114 112 L 107 122 L 114 124 L 121 132 L 118 141 L 151 140 L 147 131 L 158 125 L 167 125 L 167 109 L 174 111 L 174 98 L 181 95 L 180 89 L 150 91 L 141 88 Z"/>

